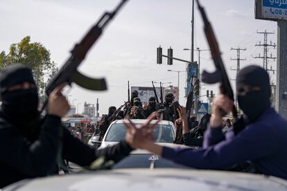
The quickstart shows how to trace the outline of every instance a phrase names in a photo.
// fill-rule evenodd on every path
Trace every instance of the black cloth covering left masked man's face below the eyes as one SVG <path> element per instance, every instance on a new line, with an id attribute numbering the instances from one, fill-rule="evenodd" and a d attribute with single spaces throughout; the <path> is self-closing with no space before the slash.
<path id="1" fill-rule="evenodd" d="M 2 95 L 2 110 L 11 122 L 17 124 L 39 117 L 37 89 L 19 89 Z"/>

